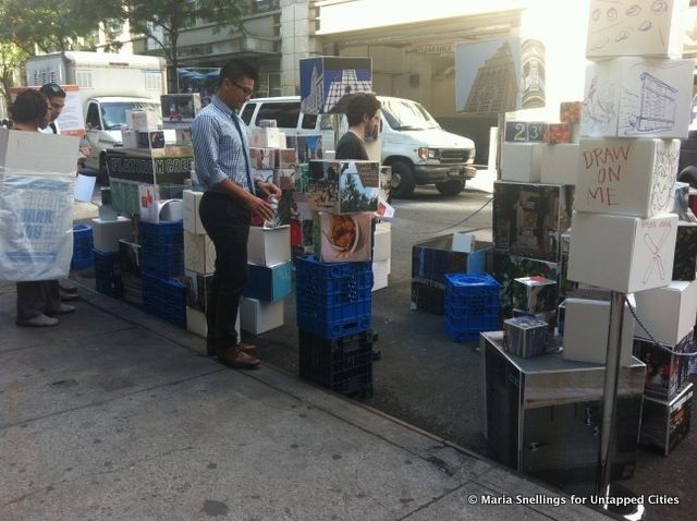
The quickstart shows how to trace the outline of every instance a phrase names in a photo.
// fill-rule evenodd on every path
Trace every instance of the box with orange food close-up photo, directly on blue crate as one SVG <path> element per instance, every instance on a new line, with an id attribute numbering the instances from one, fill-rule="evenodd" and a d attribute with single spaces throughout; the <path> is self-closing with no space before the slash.
<path id="1" fill-rule="evenodd" d="M 359 263 L 372 255 L 370 214 L 320 214 L 320 257 L 325 263 Z"/>

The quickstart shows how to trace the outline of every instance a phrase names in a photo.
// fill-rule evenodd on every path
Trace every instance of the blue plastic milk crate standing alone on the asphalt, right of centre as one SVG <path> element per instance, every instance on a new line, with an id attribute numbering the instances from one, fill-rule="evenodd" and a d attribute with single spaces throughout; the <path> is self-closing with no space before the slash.
<path id="1" fill-rule="evenodd" d="M 499 282 L 487 274 L 445 275 L 445 331 L 456 342 L 500 329 Z"/>

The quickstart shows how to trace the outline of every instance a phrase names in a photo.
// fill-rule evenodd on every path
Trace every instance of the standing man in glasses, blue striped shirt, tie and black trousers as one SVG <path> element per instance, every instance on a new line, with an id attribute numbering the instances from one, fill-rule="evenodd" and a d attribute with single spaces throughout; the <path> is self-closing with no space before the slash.
<path id="1" fill-rule="evenodd" d="M 272 183 L 252 179 L 247 128 L 237 111 L 254 93 L 257 73 L 242 60 L 220 70 L 218 93 L 192 122 L 196 174 L 206 192 L 199 215 L 216 246 L 216 274 L 208 296 L 208 349 L 225 365 L 250 368 L 255 346 L 240 343 L 235 330 L 240 298 L 247 281 L 247 238 L 253 215 L 271 220 L 259 195 L 281 195 Z"/>

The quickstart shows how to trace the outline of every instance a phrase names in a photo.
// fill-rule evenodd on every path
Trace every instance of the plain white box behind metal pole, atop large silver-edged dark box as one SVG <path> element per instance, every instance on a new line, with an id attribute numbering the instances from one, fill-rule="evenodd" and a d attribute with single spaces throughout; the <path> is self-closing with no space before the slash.
<path id="1" fill-rule="evenodd" d="M 632 295 L 627 295 L 633 303 Z M 566 299 L 564 313 L 564 360 L 604 364 L 608 359 L 608 331 L 610 329 L 610 302 L 589 299 Z M 634 317 L 624 305 L 624 326 L 621 340 L 621 364 L 632 365 Z"/>

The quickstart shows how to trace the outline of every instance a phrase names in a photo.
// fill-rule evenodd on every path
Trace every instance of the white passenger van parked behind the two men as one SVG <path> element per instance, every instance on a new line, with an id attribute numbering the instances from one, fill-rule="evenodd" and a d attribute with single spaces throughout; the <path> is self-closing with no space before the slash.
<path id="1" fill-rule="evenodd" d="M 441 194 L 455 195 L 475 177 L 475 144 L 445 132 L 416 101 L 378 96 L 382 104 L 382 165 L 392 167 L 392 196 L 407 197 L 414 187 L 436 184 Z M 334 143 L 334 121 L 328 114 L 301 112 L 298 96 L 249 99 L 240 116 L 250 126 L 276 120 L 288 135 L 322 134 Z M 345 128 L 345 122 L 343 124 Z"/>

